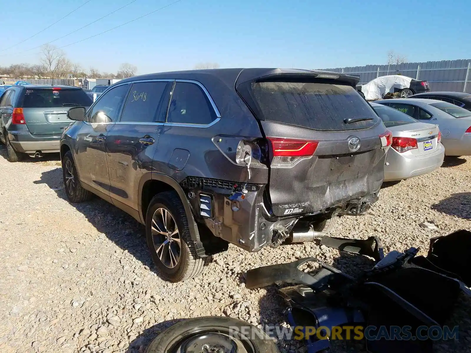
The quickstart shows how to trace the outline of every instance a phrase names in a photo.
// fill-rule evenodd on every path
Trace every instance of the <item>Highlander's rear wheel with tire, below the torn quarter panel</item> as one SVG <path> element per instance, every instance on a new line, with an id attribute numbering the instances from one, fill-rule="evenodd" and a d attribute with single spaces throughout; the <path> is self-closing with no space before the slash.
<path id="1" fill-rule="evenodd" d="M 171 282 L 194 278 L 206 259 L 196 254 L 185 208 L 174 191 L 158 193 L 146 214 L 147 246 L 162 276 Z"/>

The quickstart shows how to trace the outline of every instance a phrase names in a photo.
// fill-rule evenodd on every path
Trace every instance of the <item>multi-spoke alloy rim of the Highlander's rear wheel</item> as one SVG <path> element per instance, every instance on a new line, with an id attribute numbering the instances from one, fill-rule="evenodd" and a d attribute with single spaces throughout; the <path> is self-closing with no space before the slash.
<path id="1" fill-rule="evenodd" d="M 163 265 L 174 268 L 180 260 L 181 238 L 177 223 L 168 209 L 156 209 L 152 216 L 152 241 Z"/>

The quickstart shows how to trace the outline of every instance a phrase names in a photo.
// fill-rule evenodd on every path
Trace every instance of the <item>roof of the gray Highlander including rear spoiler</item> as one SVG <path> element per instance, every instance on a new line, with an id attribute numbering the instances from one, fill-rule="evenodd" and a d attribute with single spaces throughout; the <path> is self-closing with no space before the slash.
<path id="1" fill-rule="evenodd" d="M 206 78 L 206 80 L 216 79 L 233 86 L 237 82 L 245 82 L 262 77 L 269 77 L 271 75 L 285 74 L 292 75 L 293 77 L 302 77 L 303 75 L 319 75 L 319 74 L 335 74 L 343 81 L 355 85 L 358 82 L 358 77 L 345 75 L 339 72 L 326 72 L 317 70 L 302 70 L 302 69 L 276 69 L 276 68 L 233 68 L 233 69 L 205 69 L 205 70 L 184 70 L 184 71 L 171 71 L 171 72 L 158 72 L 146 75 L 130 77 L 119 81 L 118 83 L 125 83 L 135 80 L 162 80 L 162 79 L 187 79 L 199 80 Z M 315 76 L 314 76 L 315 77 Z"/>

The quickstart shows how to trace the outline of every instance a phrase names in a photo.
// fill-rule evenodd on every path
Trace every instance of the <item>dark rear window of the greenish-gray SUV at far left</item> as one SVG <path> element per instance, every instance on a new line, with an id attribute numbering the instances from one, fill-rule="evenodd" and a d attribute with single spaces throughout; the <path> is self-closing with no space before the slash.
<path id="1" fill-rule="evenodd" d="M 23 108 L 88 107 L 92 100 L 81 89 L 27 89 Z"/>

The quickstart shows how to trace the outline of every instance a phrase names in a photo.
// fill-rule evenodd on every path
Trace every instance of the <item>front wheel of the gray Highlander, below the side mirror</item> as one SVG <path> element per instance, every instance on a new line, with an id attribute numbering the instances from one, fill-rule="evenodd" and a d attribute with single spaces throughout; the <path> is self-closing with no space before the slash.
<path id="1" fill-rule="evenodd" d="M 77 167 L 73 162 L 72 152 L 65 152 L 62 159 L 62 176 L 64 179 L 64 189 L 67 199 L 70 202 L 89 201 L 93 197 L 93 193 L 85 190 L 80 182 Z"/>

